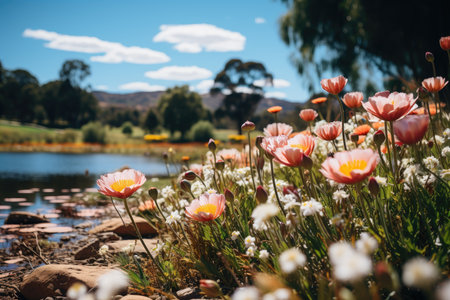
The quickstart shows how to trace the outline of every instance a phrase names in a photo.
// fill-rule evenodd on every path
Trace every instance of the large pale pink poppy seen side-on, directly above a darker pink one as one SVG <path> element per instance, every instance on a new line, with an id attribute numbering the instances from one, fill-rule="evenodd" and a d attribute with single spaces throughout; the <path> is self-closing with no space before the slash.
<path id="1" fill-rule="evenodd" d="M 417 98 L 413 94 L 390 93 L 388 91 L 369 97 L 369 101 L 363 103 L 363 107 L 371 115 L 384 120 L 395 121 L 411 113 L 417 105 Z"/>

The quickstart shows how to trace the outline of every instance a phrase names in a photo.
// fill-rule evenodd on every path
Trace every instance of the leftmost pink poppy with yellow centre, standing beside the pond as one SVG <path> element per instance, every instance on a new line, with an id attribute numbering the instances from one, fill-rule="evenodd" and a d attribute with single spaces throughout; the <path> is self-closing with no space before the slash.
<path id="1" fill-rule="evenodd" d="M 98 191 L 105 196 L 125 199 L 130 197 L 146 181 L 145 175 L 133 169 L 102 175 L 97 180 Z"/>

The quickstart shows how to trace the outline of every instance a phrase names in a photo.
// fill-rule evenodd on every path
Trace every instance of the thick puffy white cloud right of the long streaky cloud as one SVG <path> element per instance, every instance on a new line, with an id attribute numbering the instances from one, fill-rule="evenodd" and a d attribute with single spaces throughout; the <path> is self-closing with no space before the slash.
<path id="1" fill-rule="evenodd" d="M 211 24 L 161 25 L 153 38 L 155 42 L 175 44 L 176 50 L 188 53 L 242 51 L 245 40 L 239 32 Z"/>

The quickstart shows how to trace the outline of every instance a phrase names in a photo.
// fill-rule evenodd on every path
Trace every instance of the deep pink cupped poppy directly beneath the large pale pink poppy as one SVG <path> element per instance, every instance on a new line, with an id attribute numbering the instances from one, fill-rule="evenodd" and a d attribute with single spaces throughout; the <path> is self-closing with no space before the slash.
<path id="1" fill-rule="evenodd" d="M 408 145 L 422 140 L 430 124 L 428 115 L 409 115 L 394 123 L 394 134 L 400 142 Z"/>

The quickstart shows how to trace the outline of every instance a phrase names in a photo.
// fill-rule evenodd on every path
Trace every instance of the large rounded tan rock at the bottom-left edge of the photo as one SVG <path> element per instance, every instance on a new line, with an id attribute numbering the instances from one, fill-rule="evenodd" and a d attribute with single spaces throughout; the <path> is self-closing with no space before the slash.
<path id="1" fill-rule="evenodd" d="M 95 287 L 98 277 L 110 270 L 98 266 L 46 265 L 25 275 L 19 289 L 27 300 L 65 295 L 75 282 L 85 284 L 89 290 Z"/>

